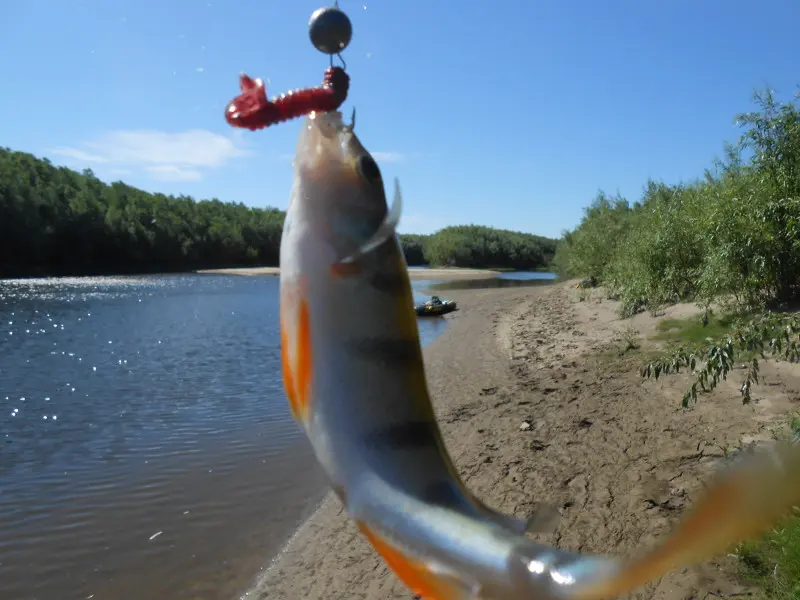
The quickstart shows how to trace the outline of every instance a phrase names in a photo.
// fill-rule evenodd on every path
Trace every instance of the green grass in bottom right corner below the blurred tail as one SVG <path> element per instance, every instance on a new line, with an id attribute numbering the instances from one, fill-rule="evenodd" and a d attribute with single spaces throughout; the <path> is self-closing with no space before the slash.
<path id="1" fill-rule="evenodd" d="M 800 415 L 791 417 L 789 430 L 800 435 Z M 764 536 L 739 544 L 737 554 L 762 600 L 800 600 L 800 509 Z"/>

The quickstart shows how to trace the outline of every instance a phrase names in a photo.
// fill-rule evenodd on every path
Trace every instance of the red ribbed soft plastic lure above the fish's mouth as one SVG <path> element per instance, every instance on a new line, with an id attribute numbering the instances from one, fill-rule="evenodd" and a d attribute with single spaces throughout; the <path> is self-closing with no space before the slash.
<path id="1" fill-rule="evenodd" d="M 225 108 L 225 120 L 233 127 L 256 131 L 311 112 L 336 110 L 347 98 L 350 77 L 341 67 L 329 67 L 318 87 L 294 90 L 272 100 L 267 100 L 260 79 L 242 73 L 239 86 L 242 93 Z"/>

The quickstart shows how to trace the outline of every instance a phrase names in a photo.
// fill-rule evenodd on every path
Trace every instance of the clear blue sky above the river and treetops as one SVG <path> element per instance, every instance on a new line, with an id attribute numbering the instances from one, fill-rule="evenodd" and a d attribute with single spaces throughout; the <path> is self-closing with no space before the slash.
<path id="1" fill-rule="evenodd" d="M 0 145 L 150 191 L 285 208 L 300 121 L 234 130 L 238 74 L 317 85 L 306 0 L 0 0 Z M 598 189 L 702 175 L 755 86 L 800 83 L 800 3 L 341 0 L 343 106 L 402 232 L 558 236 Z"/>

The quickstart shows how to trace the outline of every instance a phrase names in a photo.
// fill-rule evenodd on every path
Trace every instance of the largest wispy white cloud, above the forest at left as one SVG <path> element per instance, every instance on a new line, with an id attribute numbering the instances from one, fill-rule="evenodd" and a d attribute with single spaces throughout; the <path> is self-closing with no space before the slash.
<path id="1" fill-rule="evenodd" d="M 77 163 L 107 164 L 115 172 L 139 170 L 158 181 L 197 181 L 204 170 L 249 154 L 241 136 L 203 129 L 109 131 L 79 147 L 51 148 L 50 152 Z"/>

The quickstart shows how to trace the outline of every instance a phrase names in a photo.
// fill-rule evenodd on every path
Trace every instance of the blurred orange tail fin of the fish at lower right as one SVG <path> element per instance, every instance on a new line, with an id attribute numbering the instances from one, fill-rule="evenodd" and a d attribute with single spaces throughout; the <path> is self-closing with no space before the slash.
<path id="1" fill-rule="evenodd" d="M 800 504 L 800 445 L 778 446 L 742 460 L 713 483 L 675 531 L 613 577 L 576 590 L 574 598 L 615 598 L 666 572 L 711 558 L 759 535 Z"/>

